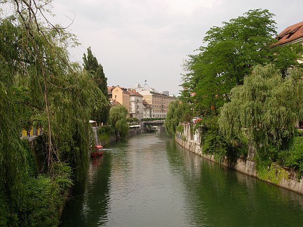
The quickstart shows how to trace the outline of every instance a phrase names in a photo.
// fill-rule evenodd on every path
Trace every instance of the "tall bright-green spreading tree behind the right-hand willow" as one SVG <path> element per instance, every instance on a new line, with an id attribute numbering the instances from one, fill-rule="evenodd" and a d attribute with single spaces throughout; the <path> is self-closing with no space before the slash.
<path id="1" fill-rule="evenodd" d="M 204 37 L 207 46 L 199 47 L 184 64 L 189 73 L 183 76 L 183 100 L 193 103 L 198 113 L 208 114 L 211 105 L 218 108 L 228 101 L 231 88 L 243 84 L 253 66 L 273 63 L 285 73 L 297 65 L 301 46 L 296 51 L 289 46 L 271 48 L 276 34 L 273 16 L 268 10 L 250 10 L 211 28 Z"/>

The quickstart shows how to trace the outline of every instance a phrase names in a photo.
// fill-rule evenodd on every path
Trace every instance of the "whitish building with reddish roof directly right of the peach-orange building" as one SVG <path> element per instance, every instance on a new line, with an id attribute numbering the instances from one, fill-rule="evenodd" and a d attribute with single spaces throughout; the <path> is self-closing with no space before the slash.
<path id="1" fill-rule="evenodd" d="M 141 120 L 143 118 L 143 95 L 136 90 L 128 89 L 129 92 L 129 117 Z"/>

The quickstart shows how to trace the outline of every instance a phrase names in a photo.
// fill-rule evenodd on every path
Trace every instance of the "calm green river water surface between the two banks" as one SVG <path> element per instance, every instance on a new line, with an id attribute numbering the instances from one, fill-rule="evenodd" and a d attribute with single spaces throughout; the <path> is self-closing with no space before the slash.
<path id="1" fill-rule="evenodd" d="M 303 226 L 303 195 L 231 171 L 163 133 L 106 147 L 62 226 Z"/>

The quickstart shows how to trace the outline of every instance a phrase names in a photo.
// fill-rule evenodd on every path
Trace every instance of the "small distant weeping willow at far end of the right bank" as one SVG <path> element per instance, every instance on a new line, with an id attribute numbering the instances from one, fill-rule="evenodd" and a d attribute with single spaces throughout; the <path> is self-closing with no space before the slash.
<path id="1" fill-rule="evenodd" d="M 190 105 L 179 100 L 173 101 L 169 104 L 166 120 L 165 131 L 170 134 L 175 134 L 176 127 L 180 122 L 190 122 L 191 111 Z"/>

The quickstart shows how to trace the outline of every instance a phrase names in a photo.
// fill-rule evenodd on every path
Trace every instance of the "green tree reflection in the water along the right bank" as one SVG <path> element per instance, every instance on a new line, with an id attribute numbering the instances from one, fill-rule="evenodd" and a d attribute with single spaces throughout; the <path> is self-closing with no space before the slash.
<path id="1" fill-rule="evenodd" d="M 303 218 L 303 196 L 232 171 L 166 142 L 169 164 L 181 176 L 194 225 L 296 226 Z"/>

